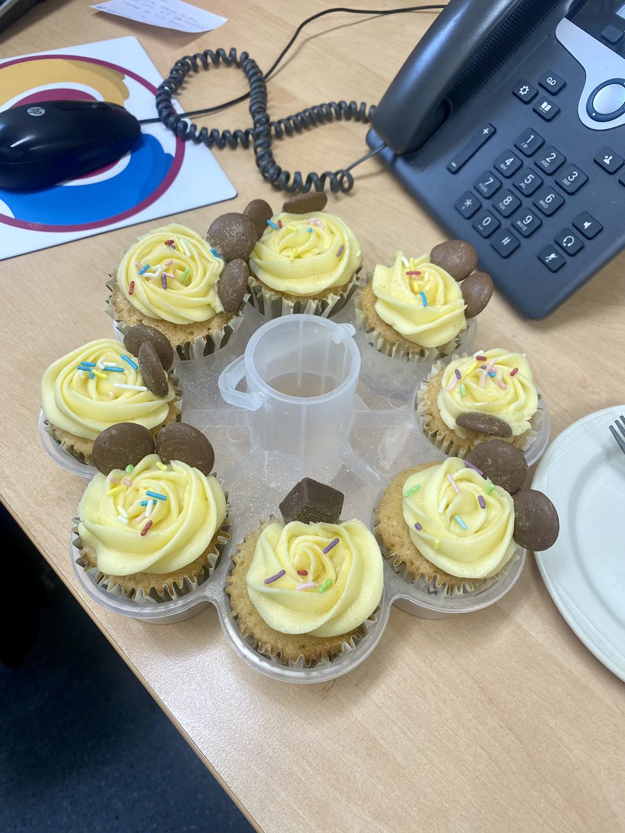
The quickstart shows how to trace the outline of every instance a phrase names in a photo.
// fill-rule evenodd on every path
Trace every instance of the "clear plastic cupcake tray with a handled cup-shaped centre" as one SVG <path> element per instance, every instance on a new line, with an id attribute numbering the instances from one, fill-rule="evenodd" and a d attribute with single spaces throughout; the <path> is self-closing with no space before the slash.
<path id="1" fill-rule="evenodd" d="M 471 352 L 476 329 L 475 322 L 469 322 L 455 352 Z M 480 342 L 478 347 L 492 345 Z M 293 682 L 328 681 L 357 666 L 378 644 L 393 604 L 434 619 L 478 611 L 498 601 L 520 576 L 524 550 L 490 585 L 456 595 L 447 595 L 433 583 L 413 582 L 385 560 L 383 597 L 364 624 L 362 637 L 345 645 L 332 661 L 312 666 L 264 656 L 242 638 L 230 611 L 225 593 L 233 567 L 230 556 L 261 521 L 279 515 L 278 504 L 303 476 L 342 491 L 343 518 L 357 517 L 373 528 L 373 511 L 393 476 L 419 463 L 444 459 L 423 435 L 415 412 L 416 392 L 430 367 L 429 362 L 378 352 L 355 327 L 353 301 L 331 320 L 287 316 L 267 322 L 248 306 L 242 327 L 227 347 L 213 356 L 177 362 L 176 367 L 183 420 L 204 431 L 213 443 L 216 469 L 230 495 L 231 537 L 212 576 L 171 601 L 150 597 L 133 601 L 97 586 L 77 565 L 79 552 L 72 534 L 72 565 L 82 588 L 111 611 L 155 623 L 188 618 L 212 604 L 228 641 L 243 660 L 268 676 Z M 542 455 L 549 438 L 542 399 L 539 407 L 540 428 L 525 452 L 530 465 Z M 69 468 L 67 454 L 41 421 L 40 425 L 52 458 L 80 473 Z M 83 476 L 92 476 L 92 470 Z"/>

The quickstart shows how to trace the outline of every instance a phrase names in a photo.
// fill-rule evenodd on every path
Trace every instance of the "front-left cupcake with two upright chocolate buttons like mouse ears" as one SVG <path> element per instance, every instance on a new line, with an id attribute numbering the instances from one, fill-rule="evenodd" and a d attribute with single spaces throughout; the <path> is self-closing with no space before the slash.
<path id="1" fill-rule="evenodd" d="M 132 424 L 97 438 L 99 473 L 78 507 L 75 546 L 78 564 L 98 585 L 131 599 L 142 591 L 167 601 L 213 571 L 228 541 L 228 511 L 210 473 L 213 447 L 201 431 L 166 426 L 154 448 L 149 431 Z"/>

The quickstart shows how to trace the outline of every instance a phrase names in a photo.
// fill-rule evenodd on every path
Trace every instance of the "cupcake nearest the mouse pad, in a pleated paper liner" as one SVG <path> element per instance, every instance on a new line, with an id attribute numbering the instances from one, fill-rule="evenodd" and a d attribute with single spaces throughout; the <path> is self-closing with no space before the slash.
<path id="1" fill-rule="evenodd" d="M 173 224 L 140 237 L 108 286 L 107 312 L 122 332 L 155 327 L 188 359 L 223 347 L 240 325 L 248 265 L 227 263 L 198 234 Z"/>

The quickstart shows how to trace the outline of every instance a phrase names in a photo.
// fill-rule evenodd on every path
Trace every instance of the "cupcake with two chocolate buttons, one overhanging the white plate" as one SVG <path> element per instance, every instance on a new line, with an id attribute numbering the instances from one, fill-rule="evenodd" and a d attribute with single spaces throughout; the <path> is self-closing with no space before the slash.
<path id="1" fill-rule="evenodd" d="M 383 551 L 400 575 L 443 586 L 447 595 L 482 591 L 522 548 L 548 549 L 559 531 L 547 496 L 522 490 L 521 451 L 491 440 L 470 457 L 402 471 L 374 514 Z"/>

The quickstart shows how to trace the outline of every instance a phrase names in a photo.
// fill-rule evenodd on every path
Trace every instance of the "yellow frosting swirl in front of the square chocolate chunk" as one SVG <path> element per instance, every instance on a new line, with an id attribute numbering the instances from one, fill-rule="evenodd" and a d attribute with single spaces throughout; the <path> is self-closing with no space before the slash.
<path id="1" fill-rule="evenodd" d="M 338 544 L 324 553 L 335 538 Z M 282 570 L 283 576 L 265 583 Z M 311 582 L 315 586 L 298 591 Z M 373 533 L 356 519 L 273 523 L 261 533 L 247 583 L 254 607 L 275 631 L 339 636 L 362 625 L 378 606 L 382 554 Z"/>

